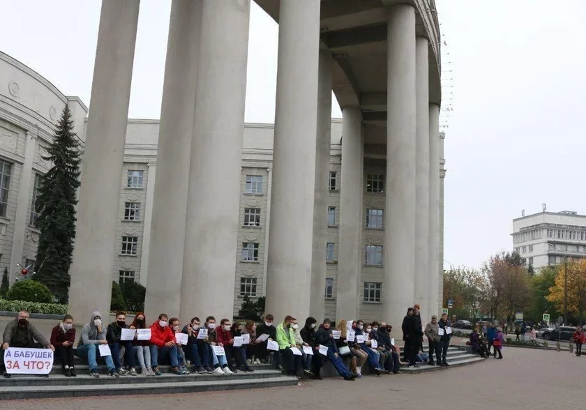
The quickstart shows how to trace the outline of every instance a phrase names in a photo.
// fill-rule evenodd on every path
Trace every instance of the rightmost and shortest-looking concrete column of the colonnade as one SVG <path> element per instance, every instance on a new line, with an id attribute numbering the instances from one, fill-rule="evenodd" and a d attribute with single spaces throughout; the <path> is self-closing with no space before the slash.
<path id="1" fill-rule="evenodd" d="M 440 259 L 440 106 L 429 105 L 429 307 L 430 314 L 442 312 L 440 280 L 443 279 Z"/>

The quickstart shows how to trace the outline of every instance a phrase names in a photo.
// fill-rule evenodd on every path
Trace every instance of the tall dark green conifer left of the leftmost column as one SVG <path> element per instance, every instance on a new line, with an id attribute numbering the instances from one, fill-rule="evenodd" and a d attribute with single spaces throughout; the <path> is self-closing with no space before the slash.
<path id="1" fill-rule="evenodd" d="M 73 259 L 76 194 L 80 186 L 78 146 L 71 112 L 66 105 L 53 144 L 43 157 L 51 161 L 53 167 L 43 177 L 35 201 L 40 236 L 33 278 L 46 284 L 60 303 L 68 301 L 69 267 Z"/>

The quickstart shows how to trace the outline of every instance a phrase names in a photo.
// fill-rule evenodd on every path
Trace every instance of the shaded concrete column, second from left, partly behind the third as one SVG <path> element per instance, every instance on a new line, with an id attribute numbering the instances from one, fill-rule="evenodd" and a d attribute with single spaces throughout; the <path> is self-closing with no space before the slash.
<path id="1" fill-rule="evenodd" d="M 151 319 L 179 315 L 202 5 L 174 0 L 171 6 L 144 304 Z"/>

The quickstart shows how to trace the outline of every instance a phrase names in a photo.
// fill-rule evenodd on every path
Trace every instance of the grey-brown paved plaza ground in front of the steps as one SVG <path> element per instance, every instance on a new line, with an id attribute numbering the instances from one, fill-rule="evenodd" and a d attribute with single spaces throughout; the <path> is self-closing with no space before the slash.
<path id="1" fill-rule="evenodd" d="M 0 398 L 0 410 L 586 409 L 582 393 L 586 388 L 586 357 L 506 348 L 503 354 L 504 360 L 490 358 L 441 372 L 369 376 L 353 382 L 333 378 L 292 388 L 7 402 Z"/>

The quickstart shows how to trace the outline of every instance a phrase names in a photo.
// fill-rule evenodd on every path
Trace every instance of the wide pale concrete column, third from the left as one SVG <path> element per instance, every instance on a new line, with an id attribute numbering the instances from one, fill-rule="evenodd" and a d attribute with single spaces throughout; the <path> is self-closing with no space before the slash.
<path id="1" fill-rule="evenodd" d="M 204 0 L 181 319 L 234 314 L 250 0 Z"/>

